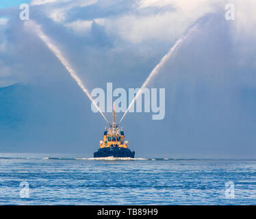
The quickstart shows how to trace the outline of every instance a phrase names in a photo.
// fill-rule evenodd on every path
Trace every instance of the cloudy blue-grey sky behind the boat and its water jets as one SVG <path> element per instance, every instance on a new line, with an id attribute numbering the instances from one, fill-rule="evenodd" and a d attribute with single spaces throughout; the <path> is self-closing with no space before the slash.
<path id="1" fill-rule="evenodd" d="M 255 1 L 32 0 L 0 3 L 0 152 L 81 153 L 99 148 L 105 121 L 29 18 L 59 47 L 88 90 L 166 89 L 166 116 L 130 113 L 121 125 L 138 157 L 255 158 Z M 225 19 L 225 5 L 235 20 Z M 110 114 L 106 114 L 110 119 Z M 118 115 L 118 118 L 121 114 Z"/>

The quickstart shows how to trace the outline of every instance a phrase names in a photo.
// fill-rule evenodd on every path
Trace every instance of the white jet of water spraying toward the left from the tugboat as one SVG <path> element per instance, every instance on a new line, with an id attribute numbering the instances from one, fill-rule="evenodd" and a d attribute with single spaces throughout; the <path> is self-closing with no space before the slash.
<path id="1" fill-rule="evenodd" d="M 69 64 L 68 61 L 66 60 L 66 58 L 64 57 L 64 55 L 62 55 L 62 52 L 60 51 L 60 49 L 58 49 L 55 46 L 55 44 L 53 44 L 52 40 L 46 34 L 44 34 L 44 32 L 42 31 L 40 26 L 35 21 L 27 21 L 25 23 L 25 25 L 28 26 L 29 28 L 33 29 L 33 31 L 36 32 L 37 36 L 42 40 L 42 42 L 44 42 L 47 45 L 47 47 L 58 58 L 58 60 L 60 60 L 60 62 L 66 68 L 66 70 L 71 75 L 71 77 L 73 77 L 73 79 L 77 82 L 77 84 L 81 88 L 81 90 L 83 90 L 86 93 L 86 95 L 88 96 L 90 101 L 92 101 L 92 103 L 97 108 L 97 110 L 99 110 L 101 116 L 103 116 L 103 118 L 106 120 L 107 124 L 110 125 L 110 123 L 107 121 L 107 118 L 105 118 L 105 116 L 104 116 L 103 112 L 101 111 L 101 109 L 99 108 L 99 106 L 93 101 L 92 96 L 90 96 L 90 93 L 84 86 L 83 81 L 81 81 L 81 79 L 79 79 L 79 77 L 75 73 L 75 70 L 73 69 L 71 64 Z"/>

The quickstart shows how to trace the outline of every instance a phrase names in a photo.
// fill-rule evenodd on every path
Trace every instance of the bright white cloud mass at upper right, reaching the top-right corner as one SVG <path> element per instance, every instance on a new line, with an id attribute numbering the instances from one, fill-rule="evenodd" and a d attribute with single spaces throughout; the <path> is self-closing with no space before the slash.
<path id="1" fill-rule="evenodd" d="M 223 14 L 225 5 L 235 5 L 235 21 L 233 25 L 239 36 L 242 34 L 255 34 L 253 27 L 256 18 L 253 8 L 256 2 L 248 0 L 246 3 L 233 1 L 207 1 L 207 0 L 145 0 L 136 1 L 133 12 L 121 14 L 104 19 L 104 25 L 111 34 L 116 34 L 132 43 L 145 40 L 164 40 L 171 42 L 181 36 L 199 18 L 206 14 Z M 167 7 L 167 8 L 166 8 Z M 148 9 L 151 8 L 149 11 Z M 159 10 L 165 9 L 166 10 Z"/>

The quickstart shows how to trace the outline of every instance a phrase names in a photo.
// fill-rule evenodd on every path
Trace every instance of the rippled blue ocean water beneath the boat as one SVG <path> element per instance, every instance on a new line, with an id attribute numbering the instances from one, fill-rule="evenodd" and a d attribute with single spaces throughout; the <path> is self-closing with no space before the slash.
<path id="1" fill-rule="evenodd" d="M 255 204 L 256 160 L 0 154 L 0 205 Z"/>

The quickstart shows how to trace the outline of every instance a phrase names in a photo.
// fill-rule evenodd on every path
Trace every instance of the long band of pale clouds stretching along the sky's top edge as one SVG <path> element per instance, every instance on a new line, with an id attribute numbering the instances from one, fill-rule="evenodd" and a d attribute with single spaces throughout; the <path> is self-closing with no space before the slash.
<path id="1" fill-rule="evenodd" d="M 248 0 L 246 3 L 241 3 L 238 0 L 195 0 L 189 2 L 185 0 L 144 0 L 133 1 L 131 5 L 123 1 L 34 0 L 31 5 L 43 5 L 50 2 L 51 4 L 47 4 L 41 9 L 42 12 L 54 22 L 62 23 L 65 27 L 73 29 L 77 34 L 86 33 L 92 21 L 95 21 L 104 25 L 110 35 L 116 35 L 132 43 L 146 40 L 172 42 L 206 14 L 223 13 L 224 17 L 226 3 L 233 3 L 236 7 L 236 21 L 234 22 L 235 29 L 238 31 L 236 35 L 242 32 L 252 34 L 256 21 L 253 12 L 256 3 L 253 0 Z M 126 13 L 120 10 L 120 5 L 125 7 L 125 4 L 129 5 L 126 8 Z M 89 19 L 82 18 L 79 13 L 83 13 L 83 8 L 88 5 L 96 5 L 90 9 L 89 13 L 92 14 L 93 10 L 97 9 L 95 16 Z M 112 14 L 113 12 L 115 14 L 112 15 L 108 12 L 110 8 L 112 8 Z M 40 9 L 38 8 L 38 10 Z M 74 14 L 76 12 L 77 14 Z M 85 11 L 84 14 L 86 15 L 88 12 Z M 78 18 L 75 18 L 76 15 Z"/>

